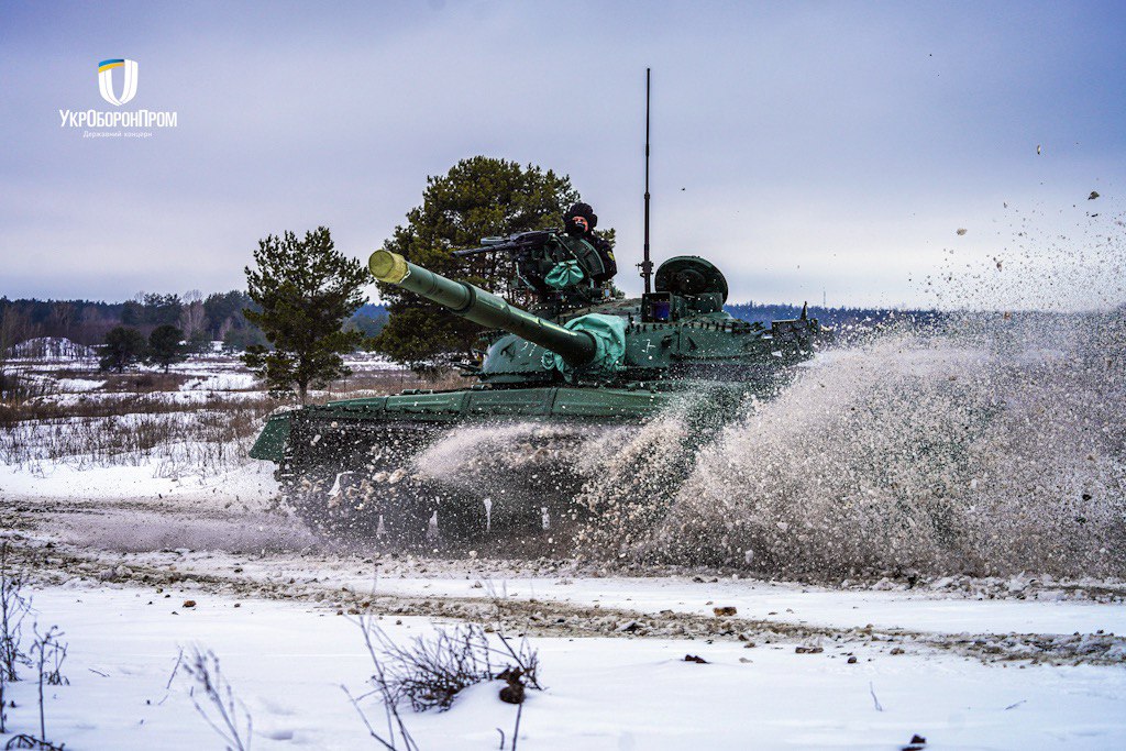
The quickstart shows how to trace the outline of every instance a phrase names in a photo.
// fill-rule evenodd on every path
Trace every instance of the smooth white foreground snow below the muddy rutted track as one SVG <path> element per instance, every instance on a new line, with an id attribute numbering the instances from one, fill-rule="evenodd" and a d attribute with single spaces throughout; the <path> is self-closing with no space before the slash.
<path id="1" fill-rule="evenodd" d="M 35 608 L 70 645 L 71 683 L 46 699 L 47 735 L 68 749 L 220 748 L 193 706 L 190 678 L 177 671 L 169 686 L 180 647 L 190 645 L 221 659 L 252 716 L 254 748 L 377 748 L 340 688 L 361 694 L 370 661 L 355 620 L 332 608 L 113 585 L 39 590 Z M 403 616 L 379 623 L 400 643 L 435 625 Z M 933 749 L 1110 749 L 1126 739 L 1120 668 L 888 656 L 868 644 L 812 653 L 733 640 L 531 644 L 546 690 L 525 704 L 524 749 L 897 749 L 914 734 Z M 707 663 L 686 662 L 688 654 Z M 495 728 L 511 737 L 516 715 L 498 699 L 502 685 L 467 689 L 446 713 L 405 710 L 419 746 L 498 748 Z M 16 689 L 9 722 L 26 728 L 34 686 Z M 382 719 L 374 700 L 364 706 Z"/>

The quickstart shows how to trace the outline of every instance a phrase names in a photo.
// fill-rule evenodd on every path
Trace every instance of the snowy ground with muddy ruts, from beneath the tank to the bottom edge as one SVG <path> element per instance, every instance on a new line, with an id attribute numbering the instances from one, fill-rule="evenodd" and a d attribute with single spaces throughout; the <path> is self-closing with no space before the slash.
<path id="1" fill-rule="evenodd" d="M 70 644 L 71 685 L 50 690 L 48 737 L 74 749 L 218 748 L 189 677 L 178 671 L 166 688 L 180 647 L 198 645 L 220 656 L 252 715 L 254 748 L 376 748 L 340 689 L 363 692 L 372 672 L 349 616 L 369 609 L 403 644 L 456 619 L 529 634 L 546 690 L 525 705 L 525 749 L 899 749 L 914 734 L 939 749 L 1126 740 L 1126 616 L 1112 582 L 839 589 L 365 555 L 279 540 L 285 518 L 267 521 L 272 530 L 214 536 L 267 518 L 224 516 L 222 499 L 185 493 L 160 501 L 163 511 L 105 499 L 6 503 L 20 530 L 9 536 L 36 562 L 36 620 L 57 624 Z M 146 537 L 157 528 L 195 549 Z M 262 549 L 269 539 L 280 548 Z M 404 708 L 408 727 L 422 749 L 497 748 L 494 728 L 510 737 L 515 722 L 500 686 L 467 689 L 447 713 Z M 32 685 L 16 690 L 9 719 L 26 730 Z M 374 699 L 365 708 L 382 717 Z"/>

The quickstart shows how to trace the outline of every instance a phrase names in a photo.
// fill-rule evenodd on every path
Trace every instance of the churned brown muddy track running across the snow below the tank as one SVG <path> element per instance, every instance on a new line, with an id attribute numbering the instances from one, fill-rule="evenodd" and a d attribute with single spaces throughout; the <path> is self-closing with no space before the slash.
<path id="1" fill-rule="evenodd" d="M 86 504 L 61 504 L 50 508 L 32 506 L 0 506 L 7 538 L 12 543 L 14 560 L 24 565 L 33 576 L 50 584 L 71 587 L 128 585 L 153 589 L 155 593 L 171 593 L 172 589 L 197 588 L 206 592 L 233 594 L 245 598 L 298 600 L 315 604 L 339 615 L 358 615 L 372 611 L 385 616 L 427 616 L 492 624 L 511 633 L 545 636 L 617 636 L 622 638 L 686 638 L 734 640 L 748 646 L 803 647 L 806 653 L 829 656 L 864 659 L 886 654 L 890 659 L 904 652 L 945 651 L 983 661 L 1030 661 L 1053 664 L 1121 664 L 1126 663 L 1126 637 L 1114 634 L 935 634 L 909 629 L 876 627 L 842 628 L 816 626 L 786 620 L 762 620 L 738 616 L 715 616 L 674 610 L 658 614 L 642 613 L 624 607 L 601 607 L 536 598 L 518 599 L 489 592 L 489 597 L 390 594 L 379 591 L 378 576 L 445 576 L 462 575 L 473 581 L 512 580 L 521 576 L 597 578 L 609 573 L 600 564 L 578 561 L 536 560 L 446 560 L 410 557 L 396 554 L 368 555 L 327 551 L 315 544 L 302 545 L 294 537 L 288 547 L 263 547 L 263 539 L 277 542 L 266 531 L 262 537 L 235 531 L 226 537 L 212 538 L 206 553 L 178 545 L 158 547 L 142 543 L 157 543 L 160 537 L 145 536 L 146 520 L 161 519 L 168 529 L 170 513 L 163 504 L 123 502 L 108 508 L 89 508 Z M 176 516 L 176 515 L 173 515 Z M 291 524 L 268 515 L 248 516 L 212 509 L 205 515 L 180 512 L 180 521 L 199 539 L 205 531 L 217 527 L 245 530 L 256 521 L 278 525 Z M 187 518 L 194 517 L 194 527 Z M 95 521 L 108 519 L 105 529 L 119 530 L 125 518 L 134 520 L 137 538 L 132 545 L 101 535 Z M 11 524 L 9 524 L 11 522 Z M 77 522 L 77 524 L 75 524 Z M 173 521 L 173 527 L 176 521 Z M 77 529 L 89 534 L 73 534 Z M 91 531 L 92 530 L 92 531 Z M 70 531 L 70 540 L 68 534 Z M 115 534 L 119 534 L 115 533 Z M 209 531 L 207 531 L 209 534 Z M 296 534 L 296 533 L 295 533 Z M 82 537 L 81 542 L 75 542 Z M 310 542 L 306 538 L 305 542 Z M 111 542 L 107 546 L 105 543 Z M 204 546 L 200 546 L 204 547 Z M 620 574 L 623 572 L 615 572 Z M 652 573 L 652 572 L 650 572 Z M 681 572 L 682 573 L 682 572 Z M 706 572 L 700 572 L 706 573 Z M 363 575 L 370 587 L 342 584 L 357 581 Z M 706 584 L 717 578 L 696 575 Z M 878 588 L 902 588 L 905 582 L 882 580 Z M 1035 581 L 1035 580 L 1033 580 Z M 951 582 L 965 585 L 966 582 Z M 850 587 L 857 584 L 849 582 Z M 1011 584 L 1010 584 L 1011 585 Z M 483 585 L 484 587 L 484 585 Z M 989 589 L 986 582 L 981 585 Z M 995 585 L 1000 590 L 1000 584 Z M 1035 587 L 1035 584 L 1033 584 Z M 1043 589 L 1044 583 L 1039 587 Z M 1081 592 L 1091 597 L 1091 588 L 1066 584 L 1074 596 Z M 1106 587 L 1096 599 L 1117 599 L 1121 591 Z M 957 590 L 953 590 L 957 591 Z M 1060 590 L 1062 591 L 1062 590 Z M 1009 596 L 1027 592 L 1009 592 Z M 981 594 L 976 594 L 981 597 Z M 820 650 L 820 652 L 817 651 Z"/>

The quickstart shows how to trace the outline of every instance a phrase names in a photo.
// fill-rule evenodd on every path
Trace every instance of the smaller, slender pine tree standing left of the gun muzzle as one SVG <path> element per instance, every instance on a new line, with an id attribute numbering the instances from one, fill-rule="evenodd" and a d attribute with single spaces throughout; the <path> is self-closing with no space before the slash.
<path id="1" fill-rule="evenodd" d="M 248 293 L 261 310 L 242 314 L 274 349 L 248 347 L 243 360 L 271 394 L 296 391 L 304 404 L 310 386 L 323 387 L 350 373 L 340 356 L 355 351 L 365 337 L 342 325 L 366 302 L 361 290 L 372 277 L 336 249 L 323 226 L 303 240 L 293 232 L 259 240 L 254 263 L 245 269 Z"/>

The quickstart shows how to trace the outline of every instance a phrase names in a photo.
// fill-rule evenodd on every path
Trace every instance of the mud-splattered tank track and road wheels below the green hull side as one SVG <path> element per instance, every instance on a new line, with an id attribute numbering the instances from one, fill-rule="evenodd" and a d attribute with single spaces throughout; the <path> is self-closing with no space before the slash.
<path id="1" fill-rule="evenodd" d="M 285 503 L 318 535 L 396 549 L 480 546 L 529 551 L 565 544 L 582 516 L 584 479 L 553 464 L 560 450 L 531 438 L 509 471 L 482 467 L 488 483 L 427 476 L 418 457 L 452 426 L 418 421 L 295 420 L 278 477 Z"/>

